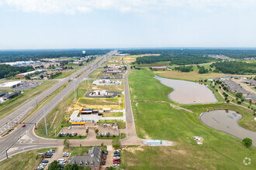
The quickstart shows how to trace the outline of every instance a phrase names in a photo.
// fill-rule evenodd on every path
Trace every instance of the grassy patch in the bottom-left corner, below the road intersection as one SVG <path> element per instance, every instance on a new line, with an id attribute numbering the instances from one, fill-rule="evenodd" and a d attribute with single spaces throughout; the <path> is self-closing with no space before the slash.
<path id="1" fill-rule="evenodd" d="M 36 159 L 39 153 L 45 153 L 49 148 L 25 151 L 10 157 L 8 160 L 0 162 L 0 169 L 35 169 L 40 164 L 40 157 Z"/>

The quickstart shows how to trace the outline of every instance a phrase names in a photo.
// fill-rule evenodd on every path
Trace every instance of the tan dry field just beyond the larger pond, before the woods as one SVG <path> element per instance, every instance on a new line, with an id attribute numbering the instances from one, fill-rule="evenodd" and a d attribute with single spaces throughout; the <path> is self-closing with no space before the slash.
<path id="1" fill-rule="evenodd" d="M 224 74 L 224 73 L 202 73 L 202 74 L 200 74 L 198 72 L 198 69 L 195 69 L 194 71 L 188 72 L 188 73 L 179 72 L 179 71 L 176 71 L 176 70 L 155 71 L 154 73 L 157 74 L 157 76 L 163 76 L 163 77 L 166 77 L 166 78 L 172 78 L 172 79 L 178 79 L 178 80 L 190 80 L 190 81 L 213 79 L 215 77 L 230 75 L 230 74 Z M 234 75 L 234 76 L 248 76 L 248 77 L 251 77 L 251 75 Z"/>

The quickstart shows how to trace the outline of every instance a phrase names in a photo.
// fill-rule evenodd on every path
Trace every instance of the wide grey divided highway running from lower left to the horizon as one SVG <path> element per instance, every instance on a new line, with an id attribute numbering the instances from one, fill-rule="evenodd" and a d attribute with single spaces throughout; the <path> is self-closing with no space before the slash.
<path id="1" fill-rule="evenodd" d="M 27 104 L 24 104 L 23 107 L 20 107 L 19 111 L 15 111 L 12 114 L 9 114 L 9 116 L 5 117 L 0 121 L 0 125 L 5 124 L 6 121 L 8 121 L 10 118 L 15 118 L 17 115 L 22 113 L 22 111 L 27 110 L 29 107 L 35 107 L 35 100 L 38 102 L 40 100 L 43 100 L 44 97 L 47 97 L 50 92 L 53 92 L 54 90 L 57 90 L 58 87 L 61 87 L 64 83 L 67 83 L 67 81 L 70 78 L 74 78 L 75 76 L 79 75 L 83 71 L 85 73 L 82 73 L 81 76 L 79 76 L 77 79 L 74 78 L 71 83 L 67 85 L 67 87 L 64 88 L 60 93 L 57 93 L 55 97 L 53 97 L 47 104 L 45 104 L 43 107 L 40 107 L 39 110 L 37 110 L 32 116 L 28 117 L 26 121 L 24 122 L 33 122 L 38 124 L 45 114 L 49 114 L 51 110 L 54 109 L 54 107 L 57 106 L 61 102 L 61 99 L 64 99 L 68 95 L 68 93 L 71 93 L 71 91 L 74 90 L 74 87 L 77 86 L 79 83 L 81 83 L 82 80 L 84 80 L 90 73 L 92 73 L 97 67 L 99 67 L 103 62 L 106 61 L 106 59 L 109 56 L 112 56 L 116 51 L 112 51 L 110 53 L 107 53 L 105 56 L 100 57 L 99 59 L 96 59 L 93 63 L 86 66 L 82 70 L 78 71 L 77 73 L 74 73 L 73 75 L 65 78 L 63 81 L 58 83 L 56 86 L 51 87 L 49 90 L 47 90 L 45 93 L 42 93 L 40 96 L 36 97 L 36 99 L 30 100 Z M 98 63 L 99 62 L 99 63 Z M 26 107 L 24 107 L 26 106 Z M 44 109 L 43 109 L 44 108 Z M 28 114 L 27 112 L 26 114 Z M 22 117 L 26 117 L 26 114 L 24 114 Z M 13 121 L 13 120 L 12 120 Z M 12 146 L 12 144 L 17 141 L 17 139 L 20 136 L 25 136 L 26 138 L 22 138 L 21 140 L 17 141 L 15 145 L 8 151 L 9 155 L 15 155 L 22 151 L 27 151 L 35 148 L 49 148 L 49 147 L 57 147 L 59 140 L 56 139 L 45 139 L 37 137 L 35 134 L 33 134 L 33 124 L 28 124 L 26 127 L 22 128 L 21 125 L 19 125 L 15 131 L 12 131 L 9 135 L 5 136 L 4 138 L 0 138 L 0 161 L 5 159 L 5 151 L 7 148 Z"/>

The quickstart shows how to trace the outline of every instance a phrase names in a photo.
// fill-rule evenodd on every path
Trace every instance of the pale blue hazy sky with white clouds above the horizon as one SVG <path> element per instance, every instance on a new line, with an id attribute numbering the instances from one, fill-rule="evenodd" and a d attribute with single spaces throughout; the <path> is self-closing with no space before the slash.
<path id="1" fill-rule="evenodd" d="M 0 49 L 256 47 L 256 0 L 0 0 Z"/>

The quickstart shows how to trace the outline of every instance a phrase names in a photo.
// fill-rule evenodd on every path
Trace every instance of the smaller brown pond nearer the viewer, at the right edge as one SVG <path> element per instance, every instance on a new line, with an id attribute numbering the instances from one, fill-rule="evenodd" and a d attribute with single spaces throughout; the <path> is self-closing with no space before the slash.
<path id="1" fill-rule="evenodd" d="M 223 131 L 242 140 L 251 138 L 252 144 L 256 147 L 256 132 L 241 128 L 237 121 L 242 117 L 234 110 L 213 110 L 200 115 L 200 121 L 209 128 Z"/>

